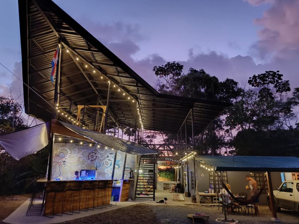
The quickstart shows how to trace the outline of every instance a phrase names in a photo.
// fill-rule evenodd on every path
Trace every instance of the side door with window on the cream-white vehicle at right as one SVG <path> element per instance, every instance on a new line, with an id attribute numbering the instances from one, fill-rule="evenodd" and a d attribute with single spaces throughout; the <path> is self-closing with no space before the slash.
<path id="1" fill-rule="evenodd" d="M 281 185 L 278 194 L 279 206 L 283 208 L 295 208 L 294 202 L 294 183 L 293 182 L 284 182 Z"/>

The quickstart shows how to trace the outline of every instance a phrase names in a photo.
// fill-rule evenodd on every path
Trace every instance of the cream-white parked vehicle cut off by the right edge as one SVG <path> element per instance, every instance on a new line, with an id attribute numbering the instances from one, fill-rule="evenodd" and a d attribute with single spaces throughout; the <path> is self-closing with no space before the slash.
<path id="1" fill-rule="evenodd" d="M 284 181 L 276 191 L 273 191 L 273 194 L 277 212 L 281 208 L 299 212 L 299 180 Z M 269 196 L 267 199 L 270 208 Z"/>

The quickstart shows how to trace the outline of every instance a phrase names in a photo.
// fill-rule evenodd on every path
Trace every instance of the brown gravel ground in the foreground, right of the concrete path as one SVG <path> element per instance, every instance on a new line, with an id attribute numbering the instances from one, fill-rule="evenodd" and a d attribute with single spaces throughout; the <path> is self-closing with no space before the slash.
<path id="1" fill-rule="evenodd" d="M 187 214 L 194 214 L 202 212 L 210 215 L 209 223 L 216 224 L 216 218 L 224 217 L 221 214 L 221 209 L 218 211 L 217 207 L 202 207 L 199 205 L 187 206 L 170 206 L 170 205 L 149 205 L 145 203 L 136 204 L 124 208 L 119 208 L 113 211 L 107 211 L 93 216 L 80 218 L 64 222 L 63 224 L 81 224 L 81 223 L 101 223 L 101 224 L 191 224 L 190 218 Z M 260 209 L 259 217 L 252 217 L 251 215 L 236 214 L 229 217 L 236 219 L 239 223 L 244 224 L 273 224 L 270 220 L 271 211 L 268 208 Z M 282 223 L 298 224 L 299 214 L 293 211 L 284 210 L 278 213 Z M 204 220 L 198 219 L 196 223 L 206 223 Z M 217 223 L 219 224 L 219 223 Z"/>

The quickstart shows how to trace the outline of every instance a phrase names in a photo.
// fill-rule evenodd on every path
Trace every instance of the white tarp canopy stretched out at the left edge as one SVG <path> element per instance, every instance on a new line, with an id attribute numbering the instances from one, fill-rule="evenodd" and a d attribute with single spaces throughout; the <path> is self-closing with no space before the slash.
<path id="1" fill-rule="evenodd" d="M 46 122 L 25 130 L 0 135 L 0 144 L 14 159 L 20 160 L 49 144 L 50 125 L 51 122 Z"/>

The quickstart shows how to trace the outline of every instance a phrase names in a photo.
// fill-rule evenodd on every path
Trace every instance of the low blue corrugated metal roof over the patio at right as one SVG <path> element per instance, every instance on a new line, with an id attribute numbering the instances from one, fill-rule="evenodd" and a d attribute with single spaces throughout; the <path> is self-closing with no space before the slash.
<path id="1" fill-rule="evenodd" d="M 216 171 L 299 171 L 298 157 L 196 156 Z"/>

